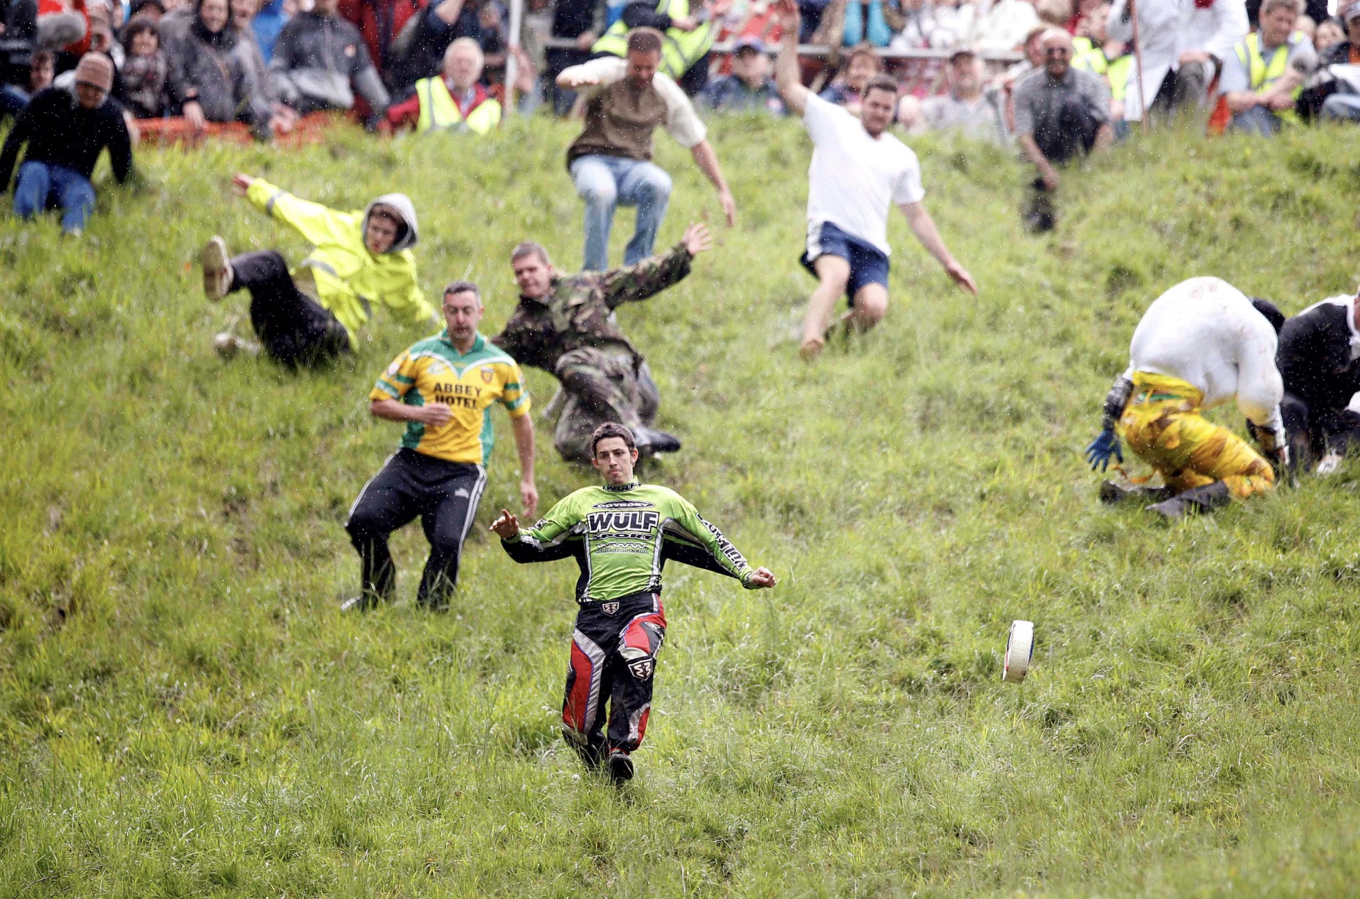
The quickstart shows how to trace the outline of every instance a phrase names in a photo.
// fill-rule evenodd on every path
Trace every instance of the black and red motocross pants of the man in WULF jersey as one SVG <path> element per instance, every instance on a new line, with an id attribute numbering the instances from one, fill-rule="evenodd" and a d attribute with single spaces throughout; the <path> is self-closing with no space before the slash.
<path id="1" fill-rule="evenodd" d="M 632 752 L 642 743 L 665 634 L 658 593 L 581 604 L 571 635 L 562 732 L 586 764 L 598 764 L 609 749 Z"/>

